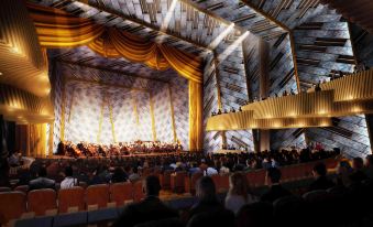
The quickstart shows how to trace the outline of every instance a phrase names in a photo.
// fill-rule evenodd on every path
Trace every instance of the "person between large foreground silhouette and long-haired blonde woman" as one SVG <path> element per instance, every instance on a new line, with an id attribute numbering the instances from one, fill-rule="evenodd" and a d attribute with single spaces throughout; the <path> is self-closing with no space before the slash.
<path id="1" fill-rule="evenodd" d="M 200 177 L 196 184 L 198 202 L 190 208 L 189 218 L 194 215 L 223 209 L 216 195 L 213 181 L 209 176 Z"/>

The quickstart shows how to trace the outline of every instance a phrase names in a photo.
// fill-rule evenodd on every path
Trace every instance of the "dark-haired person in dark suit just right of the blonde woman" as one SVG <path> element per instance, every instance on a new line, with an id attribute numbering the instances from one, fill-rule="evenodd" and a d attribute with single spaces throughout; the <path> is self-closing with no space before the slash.
<path id="1" fill-rule="evenodd" d="M 287 195 L 292 195 L 290 192 L 288 192 L 287 190 L 285 190 L 281 184 L 279 184 L 279 180 L 281 180 L 281 171 L 276 167 L 270 167 L 267 170 L 267 177 L 271 181 L 271 188 L 268 192 L 266 192 L 261 201 L 263 202 L 270 202 L 273 203 L 274 201 L 276 201 L 277 198 L 281 198 L 283 196 L 287 196 Z"/>

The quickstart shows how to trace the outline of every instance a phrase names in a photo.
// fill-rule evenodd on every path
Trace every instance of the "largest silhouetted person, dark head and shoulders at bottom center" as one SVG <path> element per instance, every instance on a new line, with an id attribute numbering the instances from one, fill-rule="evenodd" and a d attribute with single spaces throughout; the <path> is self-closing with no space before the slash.
<path id="1" fill-rule="evenodd" d="M 178 217 L 175 210 L 168 208 L 158 198 L 161 184 L 157 176 L 147 176 L 143 181 L 143 191 L 145 198 L 140 203 L 127 206 L 119 219 L 112 225 L 113 227 L 132 227 L 140 223 Z"/>

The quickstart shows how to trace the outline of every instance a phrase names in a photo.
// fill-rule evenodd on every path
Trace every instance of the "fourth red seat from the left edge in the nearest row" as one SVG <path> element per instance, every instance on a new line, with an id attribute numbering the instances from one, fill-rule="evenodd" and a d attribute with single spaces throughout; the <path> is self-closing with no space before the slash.
<path id="1" fill-rule="evenodd" d="M 86 204 L 107 207 L 109 203 L 109 186 L 107 184 L 90 185 L 86 190 Z"/>

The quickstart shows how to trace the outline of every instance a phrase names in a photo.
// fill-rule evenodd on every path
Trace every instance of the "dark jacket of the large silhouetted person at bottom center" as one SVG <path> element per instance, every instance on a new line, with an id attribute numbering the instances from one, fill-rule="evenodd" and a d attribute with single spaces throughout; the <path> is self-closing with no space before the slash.
<path id="1" fill-rule="evenodd" d="M 124 208 L 113 227 L 132 227 L 140 223 L 178 217 L 177 213 L 164 205 L 158 197 L 149 196 L 140 203 Z"/>

